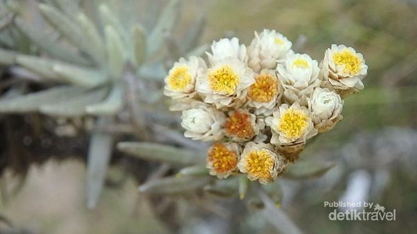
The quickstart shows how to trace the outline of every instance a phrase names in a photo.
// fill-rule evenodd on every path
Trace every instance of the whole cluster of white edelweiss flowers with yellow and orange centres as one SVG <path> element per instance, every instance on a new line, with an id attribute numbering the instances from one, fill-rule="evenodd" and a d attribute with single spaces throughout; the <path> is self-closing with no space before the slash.
<path id="1" fill-rule="evenodd" d="M 171 110 L 182 110 L 184 135 L 215 142 L 210 174 L 238 172 L 270 183 L 294 162 L 306 140 L 342 119 L 343 99 L 363 89 L 367 65 L 352 47 L 333 44 L 322 62 L 295 53 L 275 30 L 213 42 L 207 62 L 175 62 L 165 78 Z"/>

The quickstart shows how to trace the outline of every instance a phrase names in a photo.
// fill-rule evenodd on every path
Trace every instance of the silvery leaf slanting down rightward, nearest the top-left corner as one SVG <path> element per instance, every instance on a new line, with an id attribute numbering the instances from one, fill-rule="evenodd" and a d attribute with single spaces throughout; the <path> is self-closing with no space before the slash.
<path id="1" fill-rule="evenodd" d="M 19 27 L 22 33 L 29 37 L 35 44 L 38 45 L 38 47 L 52 56 L 82 65 L 88 65 L 90 63 L 88 60 L 85 60 L 85 58 L 57 44 L 55 37 L 51 37 L 51 35 L 40 31 L 38 28 L 26 24 L 26 22 L 22 19 L 16 18 L 15 24 Z"/>

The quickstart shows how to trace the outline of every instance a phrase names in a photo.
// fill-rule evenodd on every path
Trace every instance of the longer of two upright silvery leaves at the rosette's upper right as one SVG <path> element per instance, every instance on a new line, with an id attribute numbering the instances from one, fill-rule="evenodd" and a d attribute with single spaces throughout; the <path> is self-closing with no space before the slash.
<path id="1" fill-rule="evenodd" d="M 106 34 L 107 58 L 111 74 L 113 78 L 120 79 L 122 78 L 124 60 L 126 58 L 122 38 L 120 38 L 120 35 L 117 34 L 112 26 L 106 26 L 104 33 Z"/>

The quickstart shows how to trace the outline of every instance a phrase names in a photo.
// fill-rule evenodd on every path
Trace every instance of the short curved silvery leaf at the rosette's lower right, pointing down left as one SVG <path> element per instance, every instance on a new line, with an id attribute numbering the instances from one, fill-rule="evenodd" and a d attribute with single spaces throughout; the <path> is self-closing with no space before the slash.
<path id="1" fill-rule="evenodd" d="M 122 104 L 122 88 L 114 85 L 104 101 L 87 106 L 86 110 L 92 115 L 115 115 L 122 109 Z"/>

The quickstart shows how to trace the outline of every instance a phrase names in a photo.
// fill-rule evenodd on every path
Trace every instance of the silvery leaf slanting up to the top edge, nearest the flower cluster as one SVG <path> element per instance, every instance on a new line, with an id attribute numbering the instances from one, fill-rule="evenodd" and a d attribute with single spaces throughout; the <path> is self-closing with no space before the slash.
<path id="1" fill-rule="evenodd" d="M 158 19 L 158 23 L 154 27 L 154 30 L 148 37 L 148 52 L 153 54 L 163 44 L 167 35 L 170 35 L 173 26 L 177 23 L 179 15 L 179 0 L 171 0 Z"/>

